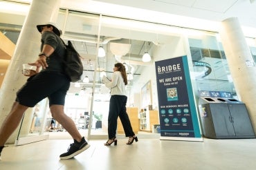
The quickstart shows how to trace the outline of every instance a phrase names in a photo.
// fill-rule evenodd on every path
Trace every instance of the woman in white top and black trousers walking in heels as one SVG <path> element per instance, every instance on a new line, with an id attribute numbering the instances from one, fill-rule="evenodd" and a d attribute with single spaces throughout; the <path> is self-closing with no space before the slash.
<path id="1" fill-rule="evenodd" d="M 132 144 L 134 140 L 138 142 L 138 138 L 132 130 L 131 122 L 126 112 L 127 96 L 125 85 L 127 85 L 127 75 L 125 66 L 122 63 L 116 63 L 115 67 L 113 68 L 111 81 L 107 79 L 107 77 L 103 77 L 103 82 L 105 86 L 111 90 L 108 117 L 109 140 L 107 140 L 104 145 L 109 146 L 113 142 L 115 145 L 118 143 L 118 140 L 116 139 L 118 116 L 120 117 L 122 127 L 125 130 L 125 136 L 129 137 L 127 144 Z"/>

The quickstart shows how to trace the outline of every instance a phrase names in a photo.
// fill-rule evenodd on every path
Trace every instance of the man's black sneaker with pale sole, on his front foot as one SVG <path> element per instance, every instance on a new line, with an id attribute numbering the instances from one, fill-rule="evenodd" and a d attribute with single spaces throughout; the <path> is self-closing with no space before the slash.
<path id="1" fill-rule="evenodd" d="M 84 137 L 82 138 L 81 142 L 77 142 L 77 140 L 74 140 L 74 143 L 70 144 L 70 146 L 68 147 L 68 151 L 60 155 L 60 159 L 67 160 L 67 159 L 73 158 L 75 155 L 78 155 L 79 153 L 81 153 L 82 151 L 85 151 L 89 147 L 90 147 L 90 144 L 86 142 Z"/>

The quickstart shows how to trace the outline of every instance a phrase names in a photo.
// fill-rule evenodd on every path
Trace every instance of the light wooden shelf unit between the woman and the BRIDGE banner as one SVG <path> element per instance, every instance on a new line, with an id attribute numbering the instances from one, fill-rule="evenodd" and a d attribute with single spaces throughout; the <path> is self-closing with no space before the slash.
<path id="1" fill-rule="evenodd" d="M 138 113 L 138 118 L 140 120 L 140 131 L 152 132 L 152 126 L 159 124 L 158 111 L 149 111 L 146 109 L 146 111 L 144 110 Z"/>

